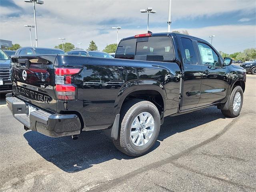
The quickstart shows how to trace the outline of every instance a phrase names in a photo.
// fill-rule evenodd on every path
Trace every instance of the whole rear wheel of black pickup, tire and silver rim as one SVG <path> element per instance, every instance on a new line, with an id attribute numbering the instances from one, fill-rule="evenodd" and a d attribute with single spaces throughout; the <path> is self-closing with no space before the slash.
<path id="1" fill-rule="evenodd" d="M 160 114 L 149 101 L 134 99 L 122 106 L 120 129 L 114 145 L 129 156 L 148 152 L 156 142 L 160 131 Z"/>

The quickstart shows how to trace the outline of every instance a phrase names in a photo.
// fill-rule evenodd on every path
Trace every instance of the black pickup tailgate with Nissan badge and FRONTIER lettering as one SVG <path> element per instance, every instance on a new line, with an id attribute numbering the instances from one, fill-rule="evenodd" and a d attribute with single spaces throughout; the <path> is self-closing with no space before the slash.
<path id="1" fill-rule="evenodd" d="M 14 95 L 38 108 L 56 112 L 55 59 L 56 55 L 12 56 Z"/>

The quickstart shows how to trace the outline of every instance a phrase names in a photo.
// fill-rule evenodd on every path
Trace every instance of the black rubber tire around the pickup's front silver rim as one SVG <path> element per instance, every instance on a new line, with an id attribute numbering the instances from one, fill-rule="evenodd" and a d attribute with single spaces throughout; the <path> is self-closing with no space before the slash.
<path id="1" fill-rule="evenodd" d="M 234 111 L 234 108 L 233 108 L 233 102 L 234 102 L 234 97 L 236 95 L 237 92 L 240 92 L 240 95 L 241 95 L 241 102 L 240 102 L 240 107 L 238 108 L 237 111 Z M 226 117 L 231 117 L 231 118 L 234 118 L 234 117 L 237 117 L 239 116 L 240 114 L 240 111 L 242 109 L 242 105 L 243 105 L 243 99 L 244 99 L 244 93 L 243 93 L 243 90 L 240 86 L 236 86 L 231 94 L 230 94 L 230 97 L 228 99 L 228 110 L 221 110 L 222 114 Z"/>

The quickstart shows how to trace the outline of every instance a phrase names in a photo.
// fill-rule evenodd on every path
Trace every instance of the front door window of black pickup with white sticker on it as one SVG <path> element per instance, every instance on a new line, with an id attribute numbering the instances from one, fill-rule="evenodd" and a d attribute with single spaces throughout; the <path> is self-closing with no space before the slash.
<path id="1" fill-rule="evenodd" d="M 197 44 L 203 65 L 222 67 L 218 55 L 212 48 L 210 48 L 210 46 L 201 42 L 197 42 Z"/>

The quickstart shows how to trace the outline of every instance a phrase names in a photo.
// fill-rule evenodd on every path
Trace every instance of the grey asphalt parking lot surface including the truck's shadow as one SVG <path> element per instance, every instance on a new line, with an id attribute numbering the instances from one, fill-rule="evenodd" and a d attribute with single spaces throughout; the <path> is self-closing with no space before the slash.
<path id="1" fill-rule="evenodd" d="M 152 151 L 131 158 L 102 132 L 78 140 L 25 131 L 1 97 L 0 191 L 256 191 L 256 76 L 240 116 L 211 107 L 167 117 Z"/>

